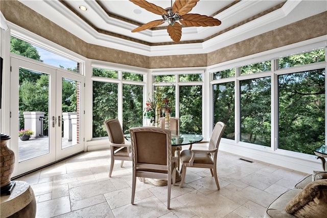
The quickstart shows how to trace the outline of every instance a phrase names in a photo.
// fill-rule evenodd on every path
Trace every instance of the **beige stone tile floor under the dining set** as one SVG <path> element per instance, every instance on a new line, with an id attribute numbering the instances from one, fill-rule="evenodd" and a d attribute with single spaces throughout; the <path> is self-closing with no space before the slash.
<path id="1" fill-rule="evenodd" d="M 196 146 L 194 146 L 196 147 Z M 185 148 L 186 149 L 186 148 Z M 263 217 L 266 207 L 307 173 L 264 162 L 246 162 L 219 151 L 220 190 L 209 169 L 188 168 L 185 183 L 167 186 L 139 180 L 131 201 L 132 163 L 116 161 L 108 177 L 110 150 L 88 151 L 16 180 L 29 182 L 36 217 Z M 244 158 L 247 159 L 247 158 Z M 247 159 L 249 160 L 249 159 Z"/>

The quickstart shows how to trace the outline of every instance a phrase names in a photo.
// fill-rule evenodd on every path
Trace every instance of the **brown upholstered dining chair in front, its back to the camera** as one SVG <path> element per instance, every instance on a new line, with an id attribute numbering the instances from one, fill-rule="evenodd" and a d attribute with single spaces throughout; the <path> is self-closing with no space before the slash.
<path id="1" fill-rule="evenodd" d="M 132 199 L 134 204 L 136 177 L 167 180 L 167 208 L 170 208 L 171 183 L 175 185 L 177 158 L 172 157 L 171 133 L 157 127 L 130 128 L 132 140 Z"/>

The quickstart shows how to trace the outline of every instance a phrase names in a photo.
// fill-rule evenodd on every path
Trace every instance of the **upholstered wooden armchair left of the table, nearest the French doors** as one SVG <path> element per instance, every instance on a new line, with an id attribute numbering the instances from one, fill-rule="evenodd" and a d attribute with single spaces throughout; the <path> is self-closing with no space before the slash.
<path id="1" fill-rule="evenodd" d="M 121 167 L 123 167 L 124 161 L 131 161 L 130 158 L 130 153 L 132 152 L 131 144 L 125 141 L 123 128 L 118 119 L 109 119 L 104 121 L 103 124 L 106 126 L 108 137 L 109 137 L 110 155 L 111 155 L 109 177 L 111 177 L 115 160 L 122 161 Z"/>

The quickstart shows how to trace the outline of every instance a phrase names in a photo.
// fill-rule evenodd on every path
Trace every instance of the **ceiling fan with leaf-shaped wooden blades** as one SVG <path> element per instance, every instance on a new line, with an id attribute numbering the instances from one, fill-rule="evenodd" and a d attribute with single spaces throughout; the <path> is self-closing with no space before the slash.
<path id="1" fill-rule="evenodd" d="M 139 32 L 164 24 L 165 21 L 169 24 L 167 32 L 175 42 L 179 42 L 182 36 L 182 26 L 179 21 L 186 27 L 212 27 L 219 26 L 221 21 L 214 17 L 209 17 L 201 14 L 188 14 L 200 0 L 176 0 L 174 5 L 171 0 L 171 7 L 163 9 L 145 0 L 129 0 L 135 5 L 146 9 L 152 13 L 161 15 L 163 19 L 153 20 L 147 24 L 139 26 L 132 32 Z"/>

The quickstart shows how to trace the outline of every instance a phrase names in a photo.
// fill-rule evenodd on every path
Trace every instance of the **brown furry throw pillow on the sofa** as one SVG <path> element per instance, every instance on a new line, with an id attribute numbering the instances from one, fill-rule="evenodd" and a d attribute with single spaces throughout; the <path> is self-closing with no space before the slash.
<path id="1" fill-rule="evenodd" d="M 285 208 L 296 217 L 326 217 L 327 180 L 317 180 L 303 188 Z"/>

